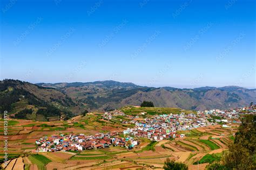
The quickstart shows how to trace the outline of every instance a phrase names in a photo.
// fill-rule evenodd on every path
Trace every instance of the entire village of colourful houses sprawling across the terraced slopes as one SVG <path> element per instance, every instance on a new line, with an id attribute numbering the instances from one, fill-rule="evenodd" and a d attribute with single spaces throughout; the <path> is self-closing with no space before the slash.
<path id="1" fill-rule="evenodd" d="M 92 136 L 84 134 L 69 134 L 51 137 L 42 137 L 36 141 L 36 152 L 55 152 L 55 151 L 83 151 L 97 150 L 110 146 L 121 146 L 132 149 L 139 144 L 136 138 L 147 138 L 151 141 L 163 139 L 184 138 L 185 134 L 177 131 L 186 131 L 194 128 L 222 124 L 224 128 L 230 128 L 230 123 L 241 123 L 239 117 L 242 114 L 253 114 L 256 111 L 253 107 L 235 108 L 230 110 L 205 110 L 185 114 L 161 114 L 140 118 L 146 115 L 141 112 L 137 116 L 126 115 L 122 111 L 114 110 L 105 112 L 103 119 L 111 120 L 118 116 L 131 118 L 130 122 L 123 121 L 122 124 L 134 124 L 134 128 L 123 130 L 123 138 L 118 136 L 118 132 L 98 133 Z M 122 119 L 120 120 L 122 121 Z"/>

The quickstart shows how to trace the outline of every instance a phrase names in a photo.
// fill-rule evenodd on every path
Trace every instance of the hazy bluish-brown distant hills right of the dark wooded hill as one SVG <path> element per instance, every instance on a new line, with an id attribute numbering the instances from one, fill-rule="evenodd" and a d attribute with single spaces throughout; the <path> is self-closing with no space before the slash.
<path id="1" fill-rule="evenodd" d="M 60 87 L 60 84 L 62 86 Z M 237 86 L 179 89 L 142 87 L 133 83 L 96 81 L 41 84 L 62 91 L 87 109 L 112 110 L 152 101 L 156 107 L 192 110 L 228 109 L 256 102 L 256 90 Z"/>

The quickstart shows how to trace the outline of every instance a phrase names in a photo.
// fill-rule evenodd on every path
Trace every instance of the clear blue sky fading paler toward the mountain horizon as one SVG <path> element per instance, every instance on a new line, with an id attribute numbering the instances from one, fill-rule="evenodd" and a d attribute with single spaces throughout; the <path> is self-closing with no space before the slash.
<path id="1" fill-rule="evenodd" d="M 255 88 L 255 1 L 1 1 L 1 79 Z"/>

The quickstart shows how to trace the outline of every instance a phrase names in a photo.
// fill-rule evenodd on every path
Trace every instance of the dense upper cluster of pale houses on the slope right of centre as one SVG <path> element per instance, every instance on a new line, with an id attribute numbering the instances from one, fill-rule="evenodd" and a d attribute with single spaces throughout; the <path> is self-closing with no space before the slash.
<path id="1" fill-rule="evenodd" d="M 145 118 L 144 121 L 137 121 L 134 128 L 124 130 L 123 133 L 159 141 L 166 138 L 183 138 L 185 134 L 179 134 L 176 131 L 190 130 L 206 125 L 205 117 L 198 117 L 193 113 L 187 115 L 185 113 L 164 114 Z"/>

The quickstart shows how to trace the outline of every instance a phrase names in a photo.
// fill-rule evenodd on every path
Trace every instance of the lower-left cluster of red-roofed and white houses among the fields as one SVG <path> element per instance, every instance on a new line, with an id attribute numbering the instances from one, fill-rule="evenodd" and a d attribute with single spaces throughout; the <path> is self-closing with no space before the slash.
<path id="1" fill-rule="evenodd" d="M 133 148 L 139 142 L 132 137 L 118 138 L 117 133 L 99 133 L 92 136 L 84 134 L 69 134 L 51 137 L 42 137 L 36 140 L 36 152 L 55 151 L 83 151 L 112 146 Z"/>

